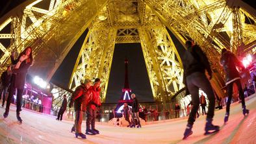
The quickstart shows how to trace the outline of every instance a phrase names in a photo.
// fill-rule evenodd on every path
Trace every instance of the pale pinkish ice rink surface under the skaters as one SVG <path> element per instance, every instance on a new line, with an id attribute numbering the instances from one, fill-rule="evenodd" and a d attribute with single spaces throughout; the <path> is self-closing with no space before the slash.
<path id="1" fill-rule="evenodd" d="M 12 106 L 7 119 L 3 119 L 4 109 L 0 108 L 0 143 L 256 143 L 256 96 L 246 101 L 250 115 L 242 115 L 241 105 L 231 105 L 227 125 L 223 125 L 224 110 L 217 110 L 214 125 L 221 130 L 210 136 L 203 136 L 205 116 L 196 119 L 193 131 L 186 140 L 183 132 L 186 119 L 145 125 L 142 128 L 114 127 L 97 124 L 101 134 L 77 139 L 70 133 L 71 121 L 57 121 L 56 117 L 35 114 L 27 110 L 21 112 L 23 124 L 16 121 L 16 107 Z M 85 123 L 83 122 L 83 132 Z"/>

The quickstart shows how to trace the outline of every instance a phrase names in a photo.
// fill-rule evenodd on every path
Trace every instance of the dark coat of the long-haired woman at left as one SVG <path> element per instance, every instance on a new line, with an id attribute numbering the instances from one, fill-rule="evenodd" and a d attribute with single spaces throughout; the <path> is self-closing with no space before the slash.
<path id="1" fill-rule="evenodd" d="M 20 56 L 19 56 L 20 57 Z M 14 60 L 12 56 L 10 56 L 10 60 L 12 64 L 17 64 L 19 62 L 19 57 Z M 15 78 L 15 88 L 23 89 L 26 81 L 27 72 L 29 71 L 29 67 L 31 67 L 31 62 L 26 63 L 26 60 L 21 62 L 18 69 L 12 69 L 12 77 Z"/>

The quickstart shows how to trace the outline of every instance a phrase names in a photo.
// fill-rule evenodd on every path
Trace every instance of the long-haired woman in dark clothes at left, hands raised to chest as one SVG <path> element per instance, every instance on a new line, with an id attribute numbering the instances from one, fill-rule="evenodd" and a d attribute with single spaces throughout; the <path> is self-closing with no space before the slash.
<path id="1" fill-rule="evenodd" d="M 25 80 L 27 76 L 27 72 L 29 67 L 31 67 L 33 58 L 32 58 L 32 48 L 27 47 L 24 51 L 22 51 L 18 58 L 14 60 L 14 53 L 10 56 L 10 60 L 14 66 L 12 69 L 12 77 L 10 78 L 10 90 L 7 98 L 5 113 L 3 116 L 6 118 L 9 114 L 10 102 L 13 98 L 14 91 L 17 89 L 17 109 L 16 109 L 16 117 L 20 123 L 22 123 L 21 117 L 19 117 L 19 112 L 21 111 L 21 101 L 22 101 L 22 93 L 25 85 Z"/>

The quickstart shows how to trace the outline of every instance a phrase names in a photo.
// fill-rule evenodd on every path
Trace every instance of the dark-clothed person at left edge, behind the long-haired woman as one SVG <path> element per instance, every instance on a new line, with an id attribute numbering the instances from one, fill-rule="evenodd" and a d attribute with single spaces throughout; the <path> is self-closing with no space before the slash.
<path id="1" fill-rule="evenodd" d="M 1 82 L 2 82 L 3 88 L 1 88 L 1 90 L 0 90 L 0 99 L 1 99 L 1 96 L 3 93 L 2 107 L 5 106 L 6 91 L 8 90 L 8 87 L 10 86 L 10 76 L 11 76 L 10 70 L 11 70 L 11 67 L 8 66 L 7 70 L 5 72 L 3 72 L 1 75 Z"/>

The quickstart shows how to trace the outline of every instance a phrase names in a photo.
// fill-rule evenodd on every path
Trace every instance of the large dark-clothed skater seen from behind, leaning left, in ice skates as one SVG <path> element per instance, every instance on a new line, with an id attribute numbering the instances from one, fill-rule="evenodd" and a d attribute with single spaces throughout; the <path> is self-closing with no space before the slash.
<path id="1" fill-rule="evenodd" d="M 219 126 L 212 125 L 212 118 L 214 116 L 215 107 L 215 97 L 211 84 L 205 75 L 206 69 L 210 79 L 212 77 L 212 70 L 208 58 L 205 53 L 203 53 L 201 48 L 198 45 L 194 45 L 194 43 L 192 43 L 191 41 L 186 42 L 186 48 L 187 50 L 183 57 L 184 80 L 186 87 L 191 94 L 193 107 L 188 117 L 188 124 L 186 125 L 183 139 L 186 139 L 193 133 L 192 126 L 194 125 L 194 121 L 196 120 L 196 112 L 198 112 L 199 108 L 199 88 L 201 88 L 201 90 L 203 90 L 207 94 L 207 97 L 209 99 L 205 134 L 211 133 L 210 131 L 217 132 L 220 129 Z"/>

